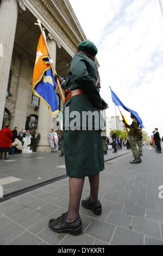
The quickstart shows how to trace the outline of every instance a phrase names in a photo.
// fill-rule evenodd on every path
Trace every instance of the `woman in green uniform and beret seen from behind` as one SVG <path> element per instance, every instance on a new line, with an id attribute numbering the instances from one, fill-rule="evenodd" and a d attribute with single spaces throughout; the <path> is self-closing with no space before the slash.
<path id="1" fill-rule="evenodd" d="M 108 105 L 99 95 L 96 54 L 97 48 L 91 41 L 80 42 L 66 79 L 61 84 L 66 93 L 64 150 L 66 171 L 70 177 L 70 203 L 66 214 L 50 220 L 49 227 L 73 235 L 82 233 L 79 205 L 85 176 L 89 176 L 90 197 L 83 200 L 82 205 L 96 215 L 102 213 L 98 200 L 99 172 L 104 170 L 100 112 Z"/>

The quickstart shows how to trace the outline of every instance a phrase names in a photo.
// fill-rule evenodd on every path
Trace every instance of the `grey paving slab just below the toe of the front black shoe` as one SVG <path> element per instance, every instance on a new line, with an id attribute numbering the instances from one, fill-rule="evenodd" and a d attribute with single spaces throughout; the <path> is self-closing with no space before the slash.
<path id="1" fill-rule="evenodd" d="M 43 241 L 47 242 L 49 245 L 58 245 L 66 235 L 66 233 L 54 232 L 49 227 L 37 233 L 37 236 L 40 237 L 40 239 L 42 239 Z"/>

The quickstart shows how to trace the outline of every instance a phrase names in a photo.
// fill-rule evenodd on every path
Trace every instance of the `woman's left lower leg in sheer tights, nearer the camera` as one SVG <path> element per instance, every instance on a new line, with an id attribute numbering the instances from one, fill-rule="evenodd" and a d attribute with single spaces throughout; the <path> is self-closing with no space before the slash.
<path id="1" fill-rule="evenodd" d="M 71 178 L 70 186 L 70 202 L 67 212 L 67 221 L 72 221 L 79 214 L 80 199 L 82 196 L 84 178 Z"/>

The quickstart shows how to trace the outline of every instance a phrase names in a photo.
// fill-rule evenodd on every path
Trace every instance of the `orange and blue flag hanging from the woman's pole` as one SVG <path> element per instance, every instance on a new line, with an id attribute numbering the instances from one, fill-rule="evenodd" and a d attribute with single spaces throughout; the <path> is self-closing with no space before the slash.
<path id="1" fill-rule="evenodd" d="M 56 88 L 57 82 L 55 82 L 45 40 L 41 34 L 33 72 L 33 92 L 46 103 L 52 114 L 59 111 Z"/>

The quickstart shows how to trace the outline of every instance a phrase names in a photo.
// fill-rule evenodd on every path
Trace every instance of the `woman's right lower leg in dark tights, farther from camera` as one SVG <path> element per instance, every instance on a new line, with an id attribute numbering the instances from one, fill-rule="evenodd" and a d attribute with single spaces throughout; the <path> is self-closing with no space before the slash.
<path id="1" fill-rule="evenodd" d="M 90 202 L 94 203 L 98 200 L 99 173 L 89 176 L 90 181 Z"/>

